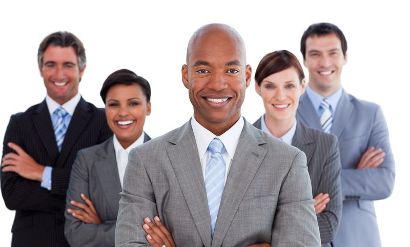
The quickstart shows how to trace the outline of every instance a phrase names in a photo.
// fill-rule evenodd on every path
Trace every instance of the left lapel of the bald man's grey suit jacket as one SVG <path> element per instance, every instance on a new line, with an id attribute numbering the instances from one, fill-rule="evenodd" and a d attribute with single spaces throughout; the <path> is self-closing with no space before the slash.
<path id="1" fill-rule="evenodd" d="M 179 130 L 170 138 L 169 142 L 175 145 L 167 148 L 167 154 L 202 242 L 210 247 L 211 216 L 191 121 Z"/>

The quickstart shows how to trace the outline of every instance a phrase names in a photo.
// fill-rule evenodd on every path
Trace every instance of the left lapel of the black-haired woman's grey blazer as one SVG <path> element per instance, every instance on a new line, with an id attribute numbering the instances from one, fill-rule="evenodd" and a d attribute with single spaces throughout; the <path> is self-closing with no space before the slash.
<path id="1" fill-rule="evenodd" d="M 116 215 L 118 214 L 118 201 L 121 199 L 119 195 L 121 192 L 121 183 L 119 181 L 113 137 L 107 139 L 96 153 L 101 156 L 99 160 L 95 162 L 97 166 L 95 170 L 97 171 L 97 177 L 103 189 L 102 194 L 106 197 L 106 201 L 110 205 L 113 214 Z"/>

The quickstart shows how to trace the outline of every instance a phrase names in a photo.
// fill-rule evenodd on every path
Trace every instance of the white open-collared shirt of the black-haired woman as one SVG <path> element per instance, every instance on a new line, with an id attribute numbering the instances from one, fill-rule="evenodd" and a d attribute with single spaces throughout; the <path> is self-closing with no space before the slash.
<path id="1" fill-rule="evenodd" d="M 113 141 L 114 141 L 115 158 L 117 160 L 119 182 L 121 183 L 121 187 L 122 187 L 122 181 L 124 180 L 125 169 L 127 167 L 128 154 L 130 153 L 131 149 L 144 143 L 144 138 L 145 138 L 145 132 L 142 131 L 142 134 L 138 137 L 138 139 L 134 141 L 130 145 L 130 147 L 128 147 L 127 149 L 124 149 L 119 143 L 117 137 L 114 135 Z"/>

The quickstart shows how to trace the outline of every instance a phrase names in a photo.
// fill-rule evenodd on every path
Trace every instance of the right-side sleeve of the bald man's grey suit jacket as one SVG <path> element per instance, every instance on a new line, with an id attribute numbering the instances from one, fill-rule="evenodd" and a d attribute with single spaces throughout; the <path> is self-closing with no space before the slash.
<path id="1" fill-rule="evenodd" d="M 272 246 L 321 246 L 306 156 L 299 152 L 279 192 Z"/>

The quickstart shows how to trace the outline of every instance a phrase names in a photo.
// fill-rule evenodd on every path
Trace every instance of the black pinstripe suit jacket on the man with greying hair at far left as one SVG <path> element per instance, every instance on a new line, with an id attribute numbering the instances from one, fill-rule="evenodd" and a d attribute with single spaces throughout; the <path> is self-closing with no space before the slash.
<path id="1" fill-rule="evenodd" d="M 58 152 L 50 113 L 44 100 L 10 118 L 3 141 L 3 156 L 14 152 L 14 142 L 43 166 L 53 167 L 52 189 L 14 172 L 1 172 L 6 207 L 15 210 L 12 246 L 69 246 L 64 237 L 64 210 L 71 165 L 77 151 L 103 142 L 112 133 L 105 113 L 82 97 L 75 108 Z"/>

